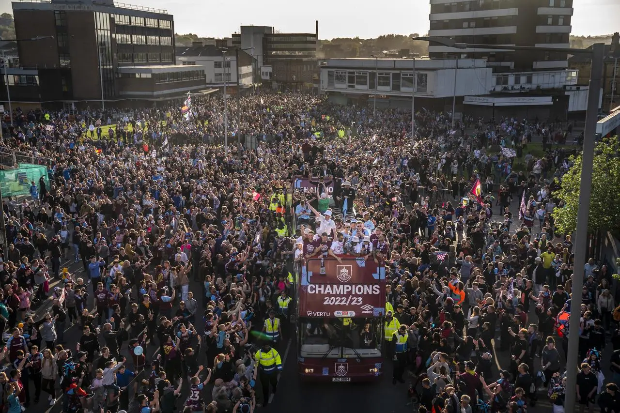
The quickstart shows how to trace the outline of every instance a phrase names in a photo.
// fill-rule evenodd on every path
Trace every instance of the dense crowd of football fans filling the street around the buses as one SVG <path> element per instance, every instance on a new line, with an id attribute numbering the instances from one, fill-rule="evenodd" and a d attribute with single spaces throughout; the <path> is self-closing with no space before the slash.
<path id="1" fill-rule="evenodd" d="M 221 97 L 192 104 L 189 118 L 174 106 L 131 118 L 18 109 L 2 123 L 0 149 L 30 154 L 50 182 L 2 205 L 9 413 L 41 403 L 42 390 L 66 412 L 265 406 L 290 336 L 294 262 L 316 248 L 386 265 L 383 350 L 394 383 L 420 378 L 419 411 L 525 412 L 539 397 L 563 411 L 573 390 L 556 319 L 570 311 L 573 244 L 554 228 L 552 193 L 569 154 L 527 148 L 561 128 L 465 118 L 453 131 L 424 110 L 412 139 L 410 112 L 262 91 L 229 102 L 228 118 L 242 116 L 224 148 Z M 526 154 L 522 169 L 500 148 Z M 292 185 L 316 176 L 306 191 Z M 605 265 L 592 260 L 586 275 L 576 391 L 611 412 L 620 353 L 613 377 L 600 360 L 608 339 L 620 347 L 617 303 Z M 499 358 L 510 360 L 501 371 Z"/>

